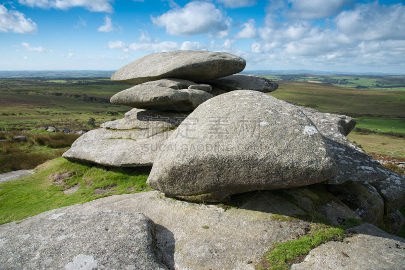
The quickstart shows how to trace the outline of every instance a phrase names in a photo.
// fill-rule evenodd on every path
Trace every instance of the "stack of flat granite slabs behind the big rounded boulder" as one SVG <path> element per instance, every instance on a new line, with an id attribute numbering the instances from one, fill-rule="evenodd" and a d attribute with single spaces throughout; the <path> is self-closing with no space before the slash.
<path id="1" fill-rule="evenodd" d="M 111 98 L 113 104 L 134 109 L 124 119 L 103 123 L 80 137 L 63 157 L 106 166 L 151 166 L 172 130 L 200 104 L 233 89 L 271 92 L 278 87 L 264 78 L 232 75 L 245 66 L 240 57 L 207 51 L 142 57 L 111 77 L 135 84 Z M 223 82 L 216 81 L 222 77 Z"/>

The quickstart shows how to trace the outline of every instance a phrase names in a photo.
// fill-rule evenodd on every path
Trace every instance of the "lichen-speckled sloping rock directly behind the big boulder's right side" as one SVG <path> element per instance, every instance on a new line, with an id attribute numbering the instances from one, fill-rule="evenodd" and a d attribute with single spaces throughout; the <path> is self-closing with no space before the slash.
<path id="1" fill-rule="evenodd" d="M 325 181 L 325 184 L 372 184 L 388 177 L 386 170 L 378 161 L 346 138 L 354 128 L 356 120 L 344 115 L 322 113 L 315 109 L 298 107 L 326 137 L 325 143 L 339 167 L 339 172 Z"/>

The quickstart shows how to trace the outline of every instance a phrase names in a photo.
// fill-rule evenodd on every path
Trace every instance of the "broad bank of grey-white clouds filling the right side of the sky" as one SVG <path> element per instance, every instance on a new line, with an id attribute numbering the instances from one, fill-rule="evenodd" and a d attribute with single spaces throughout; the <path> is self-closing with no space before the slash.
<path id="1" fill-rule="evenodd" d="M 323 5 L 326 9 L 323 12 L 315 9 L 316 3 L 318 1 L 271 1 L 264 27 L 256 29 L 259 38 L 251 43 L 250 52 L 242 53 L 246 60 L 250 64 L 260 63 L 262 68 L 271 68 L 269 65 L 274 63 L 319 68 L 327 65 L 367 68 L 383 67 L 387 63 L 404 65 L 403 4 L 381 5 L 376 1 L 346 9 L 347 3 L 338 0 L 329 3 L 330 6 Z M 316 15 L 313 16 L 327 18 L 326 25 L 313 24 L 314 17 L 304 14 L 304 4 L 307 8 L 312 7 L 312 13 Z M 302 9 L 300 14 L 299 9 Z M 296 12 L 296 17 L 291 18 L 293 15 L 289 12 Z M 239 33 L 233 37 L 240 37 Z M 224 43 L 222 49 L 230 45 Z"/>

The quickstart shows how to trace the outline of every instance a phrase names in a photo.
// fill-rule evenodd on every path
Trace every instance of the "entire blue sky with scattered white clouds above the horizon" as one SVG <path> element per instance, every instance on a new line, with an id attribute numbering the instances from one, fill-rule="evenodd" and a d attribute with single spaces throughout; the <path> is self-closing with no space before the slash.
<path id="1" fill-rule="evenodd" d="M 0 70 L 117 70 L 208 50 L 245 70 L 405 73 L 405 5 L 347 0 L 18 0 L 0 4 Z"/>

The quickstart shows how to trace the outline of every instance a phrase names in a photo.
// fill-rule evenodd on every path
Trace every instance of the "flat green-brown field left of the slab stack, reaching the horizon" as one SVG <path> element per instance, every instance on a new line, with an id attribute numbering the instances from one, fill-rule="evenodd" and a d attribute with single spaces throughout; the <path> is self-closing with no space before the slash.
<path id="1" fill-rule="evenodd" d="M 0 79 L 0 128 L 24 129 L 42 125 L 80 129 L 96 122 L 122 118 L 131 108 L 109 103 L 132 85 L 106 78 Z"/>

